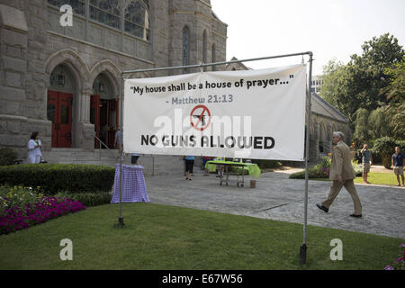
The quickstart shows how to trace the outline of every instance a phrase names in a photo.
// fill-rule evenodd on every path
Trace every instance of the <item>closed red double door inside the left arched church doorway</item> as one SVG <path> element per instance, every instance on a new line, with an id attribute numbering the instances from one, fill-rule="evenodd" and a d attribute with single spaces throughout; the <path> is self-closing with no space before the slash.
<path id="1" fill-rule="evenodd" d="M 52 121 L 52 147 L 72 146 L 73 94 L 48 91 L 48 120 Z"/>

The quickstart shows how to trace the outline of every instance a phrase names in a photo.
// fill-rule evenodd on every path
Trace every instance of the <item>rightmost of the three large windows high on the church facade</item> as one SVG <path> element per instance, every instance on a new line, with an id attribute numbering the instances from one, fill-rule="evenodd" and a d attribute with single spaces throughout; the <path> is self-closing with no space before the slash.
<path id="1" fill-rule="evenodd" d="M 125 9 L 125 31 L 143 40 L 149 40 L 149 3 L 131 2 Z"/>

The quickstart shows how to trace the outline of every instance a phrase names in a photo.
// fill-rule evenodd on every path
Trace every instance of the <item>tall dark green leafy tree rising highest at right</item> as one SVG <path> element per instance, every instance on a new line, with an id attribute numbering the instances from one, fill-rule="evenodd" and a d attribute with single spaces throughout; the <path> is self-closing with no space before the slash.
<path id="1" fill-rule="evenodd" d="M 405 55 L 398 40 L 389 33 L 365 41 L 362 49 L 362 55 L 352 55 L 347 65 L 329 61 L 320 90 L 321 97 L 347 115 L 352 129 L 359 108 L 371 112 L 390 102 L 381 94 L 392 80 L 386 72 L 401 63 Z"/>

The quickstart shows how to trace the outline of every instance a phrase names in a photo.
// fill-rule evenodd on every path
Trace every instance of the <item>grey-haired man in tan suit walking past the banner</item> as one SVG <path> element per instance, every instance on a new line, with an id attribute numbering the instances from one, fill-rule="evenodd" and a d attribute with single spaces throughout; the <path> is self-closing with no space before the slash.
<path id="1" fill-rule="evenodd" d="M 332 151 L 332 163 L 330 165 L 329 179 L 333 180 L 332 187 L 328 199 L 321 204 L 317 204 L 320 210 L 325 212 L 329 211 L 329 206 L 338 196 L 340 189 L 345 186 L 347 192 L 352 197 L 355 204 L 355 213 L 350 214 L 352 217 L 362 217 L 362 204 L 358 198 L 355 184 L 353 179 L 356 178 L 355 170 L 352 166 L 352 156 L 350 154 L 350 148 L 343 141 L 344 134 L 340 131 L 334 132 L 332 141 L 337 144 Z"/>

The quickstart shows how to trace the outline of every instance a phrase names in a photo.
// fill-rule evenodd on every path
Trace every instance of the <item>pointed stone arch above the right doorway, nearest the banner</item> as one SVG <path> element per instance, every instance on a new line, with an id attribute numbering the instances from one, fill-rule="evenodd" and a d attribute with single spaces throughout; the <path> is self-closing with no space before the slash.
<path id="1" fill-rule="evenodd" d="M 100 73 L 104 73 L 105 76 L 108 77 L 108 80 L 112 84 L 112 91 L 113 94 L 118 96 L 120 94 L 120 83 L 121 83 L 121 70 L 118 66 L 116 66 L 112 60 L 104 59 L 92 67 L 90 71 L 90 76 L 88 79 L 89 85 L 93 86 L 95 78 L 100 75 Z"/>

